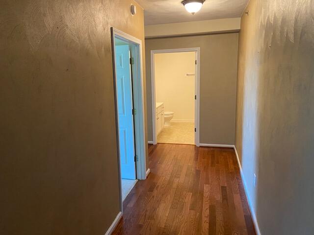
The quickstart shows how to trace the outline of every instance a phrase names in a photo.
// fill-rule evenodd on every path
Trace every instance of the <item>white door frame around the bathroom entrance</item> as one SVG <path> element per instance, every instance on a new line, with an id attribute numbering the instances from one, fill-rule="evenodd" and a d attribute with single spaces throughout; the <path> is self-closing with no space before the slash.
<path id="1" fill-rule="evenodd" d="M 196 69 L 195 69 L 195 144 L 200 146 L 200 61 L 201 61 L 201 48 L 176 48 L 176 49 L 161 49 L 151 50 L 151 78 L 152 78 L 152 122 L 153 122 L 153 144 L 157 144 L 157 130 L 156 130 L 156 86 L 155 86 L 155 54 L 158 53 L 174 53 L 174 52 L 196 52 Z"/>

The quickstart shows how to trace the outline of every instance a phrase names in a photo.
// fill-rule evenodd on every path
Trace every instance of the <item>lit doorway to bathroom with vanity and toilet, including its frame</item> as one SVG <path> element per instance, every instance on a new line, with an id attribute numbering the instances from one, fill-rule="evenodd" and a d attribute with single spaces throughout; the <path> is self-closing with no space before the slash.
<path id="1" fill-rule="evenodd" d="M 200 48 L 151 51 L 153 143 L 199 146 Z"/>

